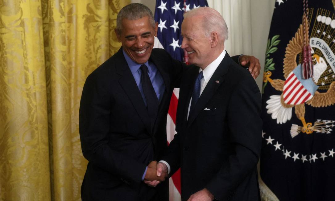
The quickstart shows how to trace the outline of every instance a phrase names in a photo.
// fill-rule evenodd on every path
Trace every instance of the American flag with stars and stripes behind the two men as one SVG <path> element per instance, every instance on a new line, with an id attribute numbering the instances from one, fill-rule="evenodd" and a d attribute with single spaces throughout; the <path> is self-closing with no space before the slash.
<path id="1" fill-rule="evenodd" d="M 156 0 L 155 21 L 158 22 L 158 33 L 155 38 L 154 48 L 163 48 L 177 60 L 184 59 L 184 50 L 181 49 L 183 38 L 181 36 L 181 26 L 184 12 L 190 9 L 208 6 L 206 0 Z M 187 53 L 186 53 L 187 54 Z M 176 124 L 176 112 L 178 104 L 179 88 L 174 89 L 171 97 L 169 113 L 166 122 L 167 143 L 173 140 Z M 170 200 L 181 200 L 180 170 L 178 170 L 169 180 Z"/>

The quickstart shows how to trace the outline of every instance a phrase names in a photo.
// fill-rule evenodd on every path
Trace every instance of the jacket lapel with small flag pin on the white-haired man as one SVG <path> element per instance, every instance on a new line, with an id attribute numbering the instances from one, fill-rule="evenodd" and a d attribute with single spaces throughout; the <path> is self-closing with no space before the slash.
<path id="1" fill-rule="evenodd" d="M 194 110 L 189 114 L 189 118 L 187 121 L 187 126 L 189 127 L 195 118 L 199 115 L 199 113 L 205 109 L 206 104 L 211 99 L 211 97 L 215 94 L 216 90 L 219 86 L 224 82 L 224 75 L 228 72 L 228 68 L 230 66 L 231 59 L 228 53 L 224 56 L 223 60 L 216 68 L 212 77 L 208 81 L 205 89 L 201 93 L 197 104 L 194 107 Z"/>

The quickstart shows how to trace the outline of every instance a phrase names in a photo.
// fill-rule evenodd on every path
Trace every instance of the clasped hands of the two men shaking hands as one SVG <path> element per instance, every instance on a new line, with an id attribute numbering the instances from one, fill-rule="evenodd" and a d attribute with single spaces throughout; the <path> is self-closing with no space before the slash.
<path id="1" fill-rule="evenodd" d="M 167 166 L 164 163 L 157 163 L 157 161 L 154 160 L 148 164 L 147 172 L 144 176 L 144 183 L 155 187 L 164 181 L 167 176 Z"/>

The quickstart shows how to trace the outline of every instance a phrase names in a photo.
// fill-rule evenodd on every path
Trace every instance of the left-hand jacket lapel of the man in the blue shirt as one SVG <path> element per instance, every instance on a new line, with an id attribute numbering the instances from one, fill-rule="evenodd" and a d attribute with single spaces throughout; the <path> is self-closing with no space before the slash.
<path id="1" fill-rule="evenodd" d="M 126 59 L 123 56 L 122 48 L 120 48 L 120 50 L 116 53 L 115 66 L 116 66 L 116 73 L 121 75 L 119 79 L 119 83 L 121 87 L 128 95 L 138 116 L 144 123 L 148 133 L 150 133 L 151 135 L 150 118 L 145 108 L 145 104 L 144 104 L 141 92 L 137 87 L 134 76 L 130 71 L 130 68 L 126 62 Z"/>

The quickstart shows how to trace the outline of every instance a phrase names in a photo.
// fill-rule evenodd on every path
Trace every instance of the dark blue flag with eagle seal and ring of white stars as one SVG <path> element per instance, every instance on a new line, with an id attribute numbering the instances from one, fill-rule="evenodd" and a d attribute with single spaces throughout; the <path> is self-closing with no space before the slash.
<path id="1" fill-rule="evenodd" d="M 264 200 L 335 198 L 333 0 L 276 0 L 262 87 Z"/>

